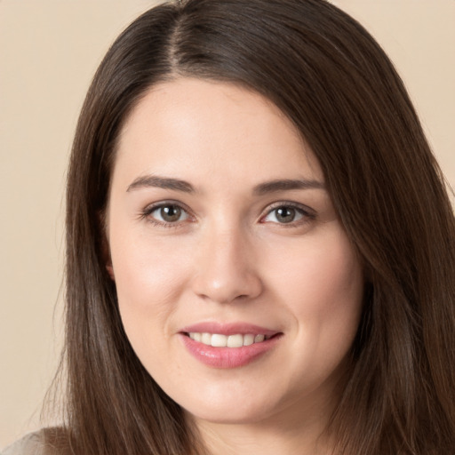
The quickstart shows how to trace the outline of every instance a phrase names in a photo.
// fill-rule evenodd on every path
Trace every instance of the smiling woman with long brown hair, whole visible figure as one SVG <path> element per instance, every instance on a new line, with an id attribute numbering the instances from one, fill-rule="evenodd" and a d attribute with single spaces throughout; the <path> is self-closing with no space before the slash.
<path id="1" fill-rule="evenodd" d="M 45 453 L 451 453 L 451 204 L 395 69 L 331 4 L 135 20 L 87 94 L 67 211 Z"/>

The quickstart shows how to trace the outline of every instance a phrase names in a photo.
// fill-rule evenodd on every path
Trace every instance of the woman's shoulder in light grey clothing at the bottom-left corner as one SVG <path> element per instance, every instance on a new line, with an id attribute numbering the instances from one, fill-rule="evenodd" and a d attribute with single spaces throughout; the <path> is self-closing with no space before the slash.
<path id="1" fill-rule="evenodd" d="M 22 437 L 0 452 L 0 455 L 57 455 L 61 450 L 65 432 L 61 428 L 44 428 Z"/>

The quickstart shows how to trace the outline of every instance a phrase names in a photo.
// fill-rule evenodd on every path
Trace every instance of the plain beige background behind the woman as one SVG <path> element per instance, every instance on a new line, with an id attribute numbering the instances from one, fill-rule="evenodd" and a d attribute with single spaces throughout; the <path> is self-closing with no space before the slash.
<path id="1" fill-rule="evenodd" d="M 0 0 L 0 447 L 40 426 L 61 339 L 63 191 L 84 92 L 153 1 Z M 336 0 L 391 56 L 455 186 L 455 0 Z"/>

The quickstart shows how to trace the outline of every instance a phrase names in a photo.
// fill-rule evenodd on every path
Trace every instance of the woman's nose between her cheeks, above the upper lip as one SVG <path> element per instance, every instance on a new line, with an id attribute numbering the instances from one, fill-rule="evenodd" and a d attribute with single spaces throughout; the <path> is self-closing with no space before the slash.
<path id="1" fill-rule="evenodd" d="M 195 257 L 193 291 L 218 303 L 257 298 L 263 290 L 253 248 L 239 232 L 212 232 Z"/>

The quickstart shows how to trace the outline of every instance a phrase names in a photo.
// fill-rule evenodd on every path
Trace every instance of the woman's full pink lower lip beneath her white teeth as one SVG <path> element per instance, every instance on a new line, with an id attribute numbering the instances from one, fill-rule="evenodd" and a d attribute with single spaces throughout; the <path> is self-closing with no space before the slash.
<path id="1" fill-rule="evenodd" d="M 180 333 L 180 337 L 189 353 L 205 365 L 213 368 L 239 368 L 266 355 L 275 347 L 282 334 L 243 347 L 212 347 L 190 339 L 183 333 Z"/>

